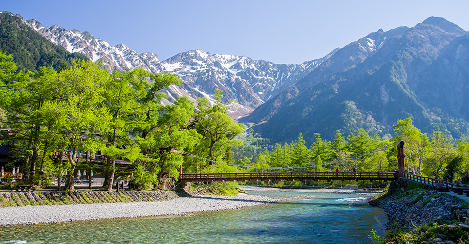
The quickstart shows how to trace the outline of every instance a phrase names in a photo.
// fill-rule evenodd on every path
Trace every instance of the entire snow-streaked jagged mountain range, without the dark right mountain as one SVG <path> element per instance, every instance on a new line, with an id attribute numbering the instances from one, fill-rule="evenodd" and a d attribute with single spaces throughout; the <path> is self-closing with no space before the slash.
<path id="1" fill-rule="evenodd" d="M 290 85 L 313 71 L 337 50 L 327 56 L 302 64 L 275 64 L 252 60 L 244 56 L 210 54 L 191 50 L 159 61 L 153 53 L 138 52 L 121 43 L 111 46 L 104 40 L 94 38 L 88 32 L 64 29 L 58 25 L 44 27 L 37 20 L 26 23 L 49 41 L 63 46 L 69 52 L 79 52 L 94 62 L 102 62 L 111 70 L 143 68 L 151 72 L 171 72 L 181 76 L 183 84 L 171 86 L 166 92 L 169 101 L 188 95 L 193 100 L 206 97 L 213 101 L 216 89 L 224 90 L 224 102 L 236 100 L 231 117 L 236 119 L 250 113 L 254 108 L 281 93 Z"/>

